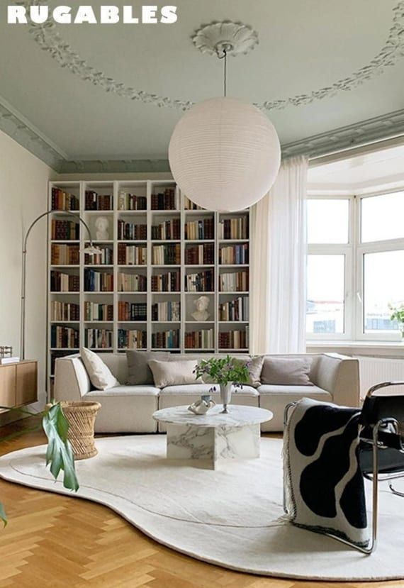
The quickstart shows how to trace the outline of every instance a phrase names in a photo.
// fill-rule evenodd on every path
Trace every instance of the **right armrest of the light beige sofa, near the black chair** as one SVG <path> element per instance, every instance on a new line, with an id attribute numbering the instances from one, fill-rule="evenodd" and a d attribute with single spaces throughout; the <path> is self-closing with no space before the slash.
<path id="1" fill-rule="evenodd" d="M 332 394 L 340 406 L 359 406 L 359 360 L 339 353 L 320 356 L 314 375 L 318 387 Z"/>

